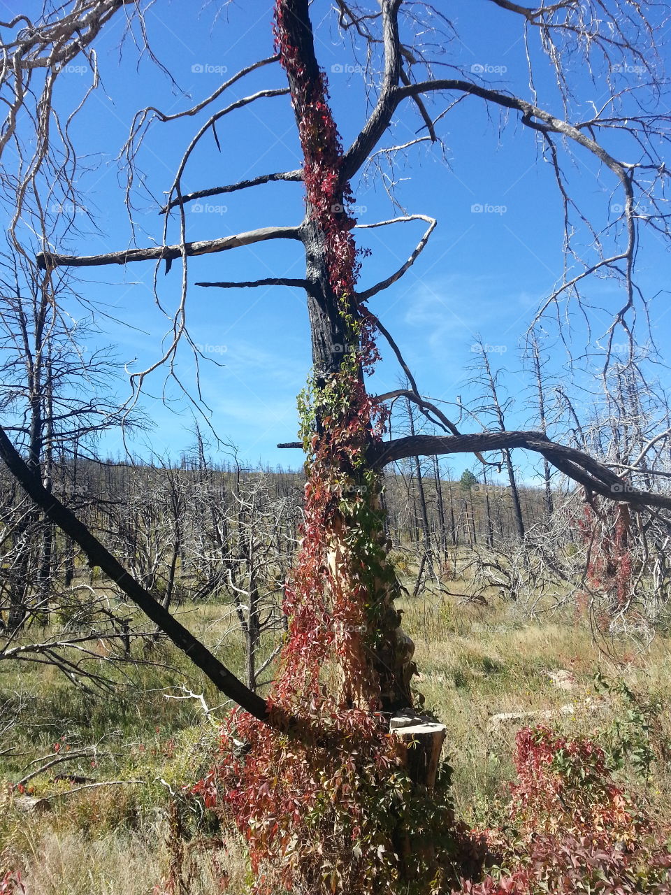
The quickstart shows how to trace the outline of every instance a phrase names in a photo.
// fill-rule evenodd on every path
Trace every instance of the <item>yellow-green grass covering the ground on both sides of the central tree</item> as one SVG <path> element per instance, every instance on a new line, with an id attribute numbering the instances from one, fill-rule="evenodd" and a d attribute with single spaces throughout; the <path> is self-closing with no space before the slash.
<path id="1" fill-rule="evenodd" d="M 458 583 L 450 586 L 454 590 Z M 611 754 L 620 755 L 617 774 L 627 788 L 654 811 L 668 814 L 671 640 L 666 635 L 623 664 L 601 652 L 589 626 L 573 617 L 528 622 L 512 605 L 460 604 L 441 594 L 406 598 L 401 608 L 403 627 L 416 644 L 417 689 L 425 708 L 447 725 L 455 805 L 467 823 L 492 823 L 514 778 L 514 736 L 524 721 L 492 725 L 492 716 L 502 712 L 556 712 L 543 722 L 569 734 L 596 732 Z M 225 607 L 185 607 L 181 617 L 242 673 L 242 638 L 226 634 L 230 618 Z M 216 730 L 200 703 L 166 699 L 184 695 L 168 688 L 185 684 L 202 692 L 210 707 L 219 700 L 213 687 L 204 686 L 165 644 L 149 651 L 140 644 L 134 648 L 145 664 L 109 668 L 120 688 L 104 699 L 73 687 L 49 666 L 0 663 L 0 729 L 3 714 L 18 713 L 0 739 L 0 780 L 19 780 L 41 756 L 67 754 L 68 747 L 72 754 L 89 749 L 30 781 L 34 795 L 50 798 L 42 814 L 22 812 L 6 782 L 0 790 L 0 878 L 3 868 L 21 868 L 30 895 L 161 891 L 174 848 L 166 821 L 171 792 L 180 793 L 200 777 L 216 743 Z M 548 677 L 556 669 L 572 673 L 571 691 Z M 595 690 L 598 674 L 610 682 L 607 692 Z M 562 712 L 569 704 L 573 711 Z M 72 782 L 54 781 L 60 771 L 141 782 L 70 795 Z M 200 824 L 201 835 L 216 831 L 186 809 L 183 820 L 191 831 Z M 232 848 L 220 856 L 222 866 L 229 891 L 244 891 L 242 853 Z M 193 868 L 189 891 L 219 891 L 213 882 L 216 869 L 208 861 L 194 858 Z"/>

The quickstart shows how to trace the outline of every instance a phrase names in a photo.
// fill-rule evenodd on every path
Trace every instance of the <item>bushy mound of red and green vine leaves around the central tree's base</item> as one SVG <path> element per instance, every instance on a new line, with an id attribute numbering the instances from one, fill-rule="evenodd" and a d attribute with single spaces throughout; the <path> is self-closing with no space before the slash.
<path id="1" fill-rule="evenodd" d="M 402 862 L 406 874 L 412 865 L 407 891 L 429 895 L 445 891 L 464 856 L 477 862 L 477 842 L 454 823 L 449 769 L 436 791 L 415 787 L 382 721 L 334 706 L 327 730 L 339 748 L 324 748 L 243 713 L 229 720 L 218 762 L 195 792 L 225 824 L 234 819 L 257 895 L 395 895 Z"/>

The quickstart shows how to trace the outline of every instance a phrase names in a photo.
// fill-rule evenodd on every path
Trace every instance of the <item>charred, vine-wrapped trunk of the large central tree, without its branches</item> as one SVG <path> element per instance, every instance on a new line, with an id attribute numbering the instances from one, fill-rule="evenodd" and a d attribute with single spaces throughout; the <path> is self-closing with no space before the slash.
<path id="1" fill-rule="evenodd" d="M 386 558 L 381 482 L 368 459 L 377 408 L 366 394 L 363 371 L 377 352 L 365 305 L 354 293 L 351 191 L 315 56 L 308 0 L 285 0 L 276 15 L 304 155 L 307 216 L 300 232 L 313 362 L 311 404 L 302 421 L 310 457 L 306 534 L 313 537 L 304 538 L 292 592 L 300 603 L 310 579 L 321 591 L 327 624 L 336 626 L 344 700 L 394 711 L 412 706 L 412 644 L 394 609 L 399 588 Z"/>

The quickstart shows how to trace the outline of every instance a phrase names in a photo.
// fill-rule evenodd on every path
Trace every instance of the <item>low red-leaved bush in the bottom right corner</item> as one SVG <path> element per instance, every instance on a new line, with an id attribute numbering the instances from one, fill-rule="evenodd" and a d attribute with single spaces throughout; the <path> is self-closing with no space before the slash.
<path id="1" fill-rule="evenodd" d="M 485 831 L 495 866 L 468 895 L 651 895 L 671 893 L 669 831 L 611 778 L 590 737 L 522 729 L 514 755 L 507 824 Z"/>

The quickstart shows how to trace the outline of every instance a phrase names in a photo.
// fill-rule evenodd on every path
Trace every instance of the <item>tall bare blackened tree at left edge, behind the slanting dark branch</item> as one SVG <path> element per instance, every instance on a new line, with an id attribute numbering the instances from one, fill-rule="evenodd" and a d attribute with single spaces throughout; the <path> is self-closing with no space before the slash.
<path id="1" fill-rule="evenodd" d="M 0 255 L 5 429 L 49 492 L 58 457 L 85 451 L 105 430 L 126 422 L 130 430 L 134 424 L 108 396 L 118 376 L 109 350 L 87 351 L 90 321 L 75 324 L 61 310 L 71 297 L 68 291 L 65 277 L 47 281 L 16 251 L 7 248 Z M 13 555 L 5 567 L 11 580 L 7 626 L 14 630 L 33 613 L 45 621 L 49 616 L 57 543 L 53 525 L 24 499 L 14 503 L 13 511 L 5 501 L 4 524 L 13 532 Z"/>

